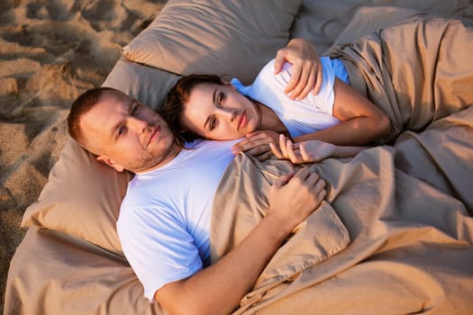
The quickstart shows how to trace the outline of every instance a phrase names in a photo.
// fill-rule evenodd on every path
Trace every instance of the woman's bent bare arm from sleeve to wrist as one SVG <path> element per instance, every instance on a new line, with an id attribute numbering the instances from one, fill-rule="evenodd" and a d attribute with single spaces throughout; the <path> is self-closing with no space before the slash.
<path id="1" fill-rule="evenodd" d="M 338 78 L 335 78 L 333 93 L 333 116 L 341 122 L 325 130 L 296 137 L 295 142 L 314 139 L 340 146 L 359 146 L 387 136 L 391 123 L 368 98 Z"/>

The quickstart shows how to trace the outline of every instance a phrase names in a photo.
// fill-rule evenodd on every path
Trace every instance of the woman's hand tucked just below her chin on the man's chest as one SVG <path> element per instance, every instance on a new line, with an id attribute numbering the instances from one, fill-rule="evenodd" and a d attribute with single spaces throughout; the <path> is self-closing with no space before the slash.
<path id="1" fill-rule="evenodd" d="M 232 146 L 232 153 L 237 155 L 240 152 L 246 152 L 258 158 L 259 161 L 264 161 L 272 156 L 269 143 L 277 143 L 277 139 L 279 139 L 277 132 L 270 130 L 254 131 L 248 133 L 246 139 L 235 143 Z"/>

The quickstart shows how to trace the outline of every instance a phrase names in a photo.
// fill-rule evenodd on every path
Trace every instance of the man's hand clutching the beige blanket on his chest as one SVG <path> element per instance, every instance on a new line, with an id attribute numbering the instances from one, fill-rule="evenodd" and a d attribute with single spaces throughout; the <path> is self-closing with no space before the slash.
<path id="1" fill-rule="evenodd" d="M 309 168 L 282 175 L 269 191 L 268 215 L 277 216 L 281 226 L 292 230 L 320 205 L 325 194 L 325 182 Z"/>

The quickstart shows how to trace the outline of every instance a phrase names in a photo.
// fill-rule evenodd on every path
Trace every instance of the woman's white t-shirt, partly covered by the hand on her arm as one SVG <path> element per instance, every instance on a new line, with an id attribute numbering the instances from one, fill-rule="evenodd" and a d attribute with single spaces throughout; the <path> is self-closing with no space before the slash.
<path id="1" fill-rule="evenodd" d="M 292 65 L 287 62 L 276 76 L 273 59 L 261 69 L 252 85 L 241 85 L 238 79 L 232 79 L 232 85 L 241 94 L 271 108 L 294 138 L 332 127 L 340 122 L 332 115 L 333 84 L 335 76 L 348 83 L 348 73 L 339 59 L 323 57 L 320 61 L 323 69 L 320 92 L 316 95 L 311 92 L 300 101 L 291 100 L 284 92 L 292 74 Z"/>

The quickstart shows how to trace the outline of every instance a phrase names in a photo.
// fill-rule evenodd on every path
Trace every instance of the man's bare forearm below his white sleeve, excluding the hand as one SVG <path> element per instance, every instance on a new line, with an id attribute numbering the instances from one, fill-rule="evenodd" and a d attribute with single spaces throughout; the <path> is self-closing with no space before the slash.
<path id="1" fill-rule="evenodd" d="M 156 300 L 170 313 L 231 313 L 290 233 L 286 223 L 269 212 L 228 255 L 196 275 L 165 285 Z"/>

